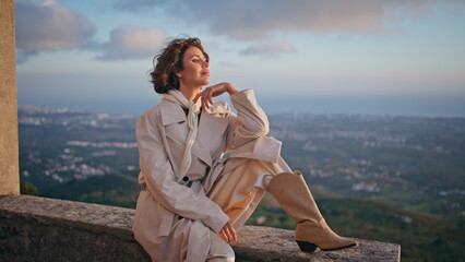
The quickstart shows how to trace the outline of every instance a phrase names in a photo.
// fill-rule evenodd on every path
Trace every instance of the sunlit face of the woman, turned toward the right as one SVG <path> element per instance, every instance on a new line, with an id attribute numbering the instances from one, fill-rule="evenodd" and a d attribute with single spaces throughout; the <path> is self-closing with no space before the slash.
<path id="1" fill-rule="evenodd" d="M 208 61 L 194 46 L 189 47 L 182 58 L 182 70 L 177 73 L 180 86 L 201 88 L 210 84 Z"/>

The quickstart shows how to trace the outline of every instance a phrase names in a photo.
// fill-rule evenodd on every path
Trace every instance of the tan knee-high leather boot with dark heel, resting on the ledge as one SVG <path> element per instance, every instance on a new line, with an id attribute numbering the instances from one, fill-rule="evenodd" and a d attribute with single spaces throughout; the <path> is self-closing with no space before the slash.
<path id="1" fill-rule="evenodd" d="M 281 207 L 296 222 L 296 241 L 301 251 L 339 250 L 357 242 L 338 236 L 327 226 L 300 171 L 274 176 L 267 186 Z"/>

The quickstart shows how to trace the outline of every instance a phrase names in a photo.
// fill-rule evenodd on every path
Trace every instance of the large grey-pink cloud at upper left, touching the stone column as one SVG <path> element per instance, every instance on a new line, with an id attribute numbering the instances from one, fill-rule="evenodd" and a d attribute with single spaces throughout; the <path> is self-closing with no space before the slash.
<path id="1" fill-rule="evenodd" d="M 16 0 L 15 9 L 19 62 L 40 51 L 83 47 L 95 34 L 83 14 L 53 0 Z"/>

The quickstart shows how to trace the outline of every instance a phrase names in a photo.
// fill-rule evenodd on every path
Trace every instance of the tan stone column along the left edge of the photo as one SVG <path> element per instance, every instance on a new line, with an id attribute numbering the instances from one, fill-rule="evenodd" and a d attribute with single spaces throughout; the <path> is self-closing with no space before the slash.
<path id="1" fill-rule="evenodd" d="M 20 193 L 14 0 L 0 0 L 0 195 Z"/>

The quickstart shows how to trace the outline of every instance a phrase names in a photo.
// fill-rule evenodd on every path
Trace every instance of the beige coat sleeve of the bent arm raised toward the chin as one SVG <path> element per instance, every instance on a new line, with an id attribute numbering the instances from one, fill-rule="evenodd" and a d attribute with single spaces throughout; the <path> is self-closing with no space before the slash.
<path id="1" fill-rule="evenodd" d="M 237 115 L 229 116 L 226 151 L 264 136 L 270 131 L 269 119 L 257 103 L 253 90 L 237 92 L 230 99 Z"/>

